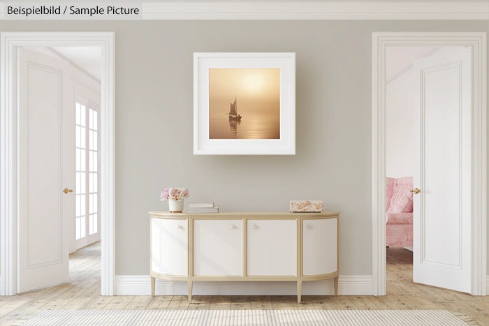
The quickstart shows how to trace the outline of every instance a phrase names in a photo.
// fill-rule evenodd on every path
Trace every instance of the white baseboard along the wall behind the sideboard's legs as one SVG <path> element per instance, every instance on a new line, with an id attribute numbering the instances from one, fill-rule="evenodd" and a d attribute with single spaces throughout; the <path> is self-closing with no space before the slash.
<path id="1" fill-rule="evenodd" d="M 187 295 L 187 282 L 156 280 L 156 295 Z M 297 295 L 295 282 L 194 282 L 194 295 Z M 116 295 L 151 295 L 149 275 L 115 276 Z M 302 295 L 333 295 L 333 280 L 304 281 Z M 340 276 L 339 295 L 372 295 L 372 276 Z"/>

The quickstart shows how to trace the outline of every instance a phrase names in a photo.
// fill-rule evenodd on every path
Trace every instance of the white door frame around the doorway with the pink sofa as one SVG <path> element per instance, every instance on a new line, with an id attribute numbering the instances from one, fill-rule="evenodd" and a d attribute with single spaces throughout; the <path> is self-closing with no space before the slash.
<path id="1" fill-rule="evenodd" d="M 486 32 L 372 34 L 372 295 L 386 295 L 386 46 L 462 45 L 472 48 L 472 280 L 486 295 L 487 66 Z"/>

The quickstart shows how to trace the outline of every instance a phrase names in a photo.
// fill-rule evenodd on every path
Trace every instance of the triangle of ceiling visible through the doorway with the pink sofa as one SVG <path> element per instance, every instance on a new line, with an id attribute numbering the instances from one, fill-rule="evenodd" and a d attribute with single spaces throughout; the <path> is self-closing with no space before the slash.
<path id="1" fill-rule="evenodd" d="M 390 45 L 386 48 L 386 77 L 387 83 L 411 69 L 413 62 L 422 57 L 428 57 L 437 51 L 439 46 L 421 45 Z"/>

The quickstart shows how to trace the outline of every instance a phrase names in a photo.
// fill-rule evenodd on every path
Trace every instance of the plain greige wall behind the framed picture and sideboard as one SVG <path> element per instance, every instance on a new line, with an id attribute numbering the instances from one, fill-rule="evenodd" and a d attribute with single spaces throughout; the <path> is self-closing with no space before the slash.
<path id="1" fill-rule="evenodd" d="M 370 275 L 372 31 L 488 31 L 486 21 L 0 21 L 2 31 L 116 32 L 116 274 L 149 274 L 147 211 L 165 185 L 223 211 L 322 199 L 340 273 Z M 193 52 L 296 52 L 297 155 L 192 155 Z M 489 251 L 489 250 L 488 250 Z"/>

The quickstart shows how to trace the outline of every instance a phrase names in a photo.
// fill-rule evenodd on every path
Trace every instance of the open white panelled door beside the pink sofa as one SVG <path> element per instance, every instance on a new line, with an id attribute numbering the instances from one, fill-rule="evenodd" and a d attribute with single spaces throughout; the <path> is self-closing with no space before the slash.
<path id="1" fill-rule="evenodd" d="M 471 50 L 441 48 L 414 76 L 413 280 L 470 292 Z"/>

